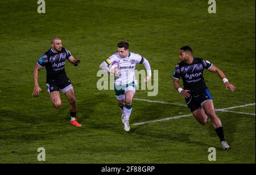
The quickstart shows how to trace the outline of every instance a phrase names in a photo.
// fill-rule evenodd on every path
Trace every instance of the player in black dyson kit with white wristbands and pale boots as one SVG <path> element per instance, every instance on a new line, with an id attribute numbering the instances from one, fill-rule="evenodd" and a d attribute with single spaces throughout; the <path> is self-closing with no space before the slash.
<path id="1" fill-rule="evenodd" d="M 205 125 L 209 119 L 212 121 L 212 126 L 220 138 L 222 148 L 229 149 L 224 137 L 221 120 L 214 111 L 212 97 L 204 81 L 203 70 L 208 69 L 217 73 L 224 82 L 226 89 L 229 88 L 234 91 L 236 87 L 211 62 L 193 57 L 192 49 L 188 46 L 180 48 L 179 59 L 181 62 L 176 65 L 173 75 L 175 89 L 185 98 L 189 109 L 200 124 Z M 180 87 L 180 77 L 183 80 L 184 89 Z"/>

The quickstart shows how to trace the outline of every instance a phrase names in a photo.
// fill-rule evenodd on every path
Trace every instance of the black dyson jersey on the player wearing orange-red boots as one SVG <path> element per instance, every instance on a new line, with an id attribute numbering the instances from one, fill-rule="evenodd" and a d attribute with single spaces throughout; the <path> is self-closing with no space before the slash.
<path id="1" fill-rule="evenodd" d="M 53 52 L 52 49 L 49 49 L 40 57 L 38 64 L 41 67 L 46 66 L 47 82 L 61 82 L 67 77 L 64 68 L 65 60 L 68 60 L 71 56 L 67 49 L 62 48 L 60 52 Z"/>

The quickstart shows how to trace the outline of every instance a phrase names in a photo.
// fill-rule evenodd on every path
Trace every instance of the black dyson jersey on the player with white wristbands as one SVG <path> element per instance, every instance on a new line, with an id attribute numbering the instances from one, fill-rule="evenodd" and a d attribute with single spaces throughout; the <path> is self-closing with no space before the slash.
<path id="1" fill-rule="evenodd" d="M 208 89 L 204 81 L 203 70 L 211 67 L 211 62 L 194 57 L 191 64 L 185 64 L 183 61 L 177 64 L 173 77 L 175 79 L 180 79 L 181 77 L 184 89 L 190 90 L 191 94 L 198 94 Z"/>

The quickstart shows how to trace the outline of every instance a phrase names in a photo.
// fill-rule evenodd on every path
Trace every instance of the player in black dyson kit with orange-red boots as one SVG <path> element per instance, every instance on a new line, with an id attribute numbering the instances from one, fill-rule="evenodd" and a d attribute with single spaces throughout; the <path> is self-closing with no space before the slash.
<path id="1" fill-rule="evenodd" d="M 65 73 L 65 60 L 68 60 L 73 65 L 77 66 L 80 63 L 80 60 L 76 60 L 71 53 L 62 47 L 62 42 L 60 38 L 52 38 L 51 48 L 44 53 L 42 57 L 38 60 L 34 68 L 34 91 L 32 95 L 38 97 L 42 89 L 38 83 L 38 72 L 39 70 L 46 67 L 47 74 L 47 91 L 49 92 L 49 97 L 53 106 L 59 108 L 61 106 L 60 92 L 61 91 L 66 95 L 70 103 L 70 116 L 71 124 L 74 126 L 80 127 L 81 124 L 76 120 L 76 99 L 75 93 L 71 81 L 69 80 L 67 74 Z"/>

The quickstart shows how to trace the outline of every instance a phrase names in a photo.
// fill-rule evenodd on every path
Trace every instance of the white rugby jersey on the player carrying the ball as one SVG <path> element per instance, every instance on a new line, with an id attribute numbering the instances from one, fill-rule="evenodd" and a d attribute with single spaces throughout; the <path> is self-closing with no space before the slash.
<path id="1" fill-rule="evenodd" d="M 143 64 L 144 57 L 139 54 L 129 52 L 129 55 L 125 58 L 121 58 L 118 53 L 110 56 L 105 60 L 105 63 L 109 66 L 113 61 L 118 61 L 120 64 L 119 72 L 121 73 L 119 77 L 115 78 L 115 85 L 125 85 L 131 82 L 137 81 L 135 80 L 135 66 L 136 64 Z"/>

